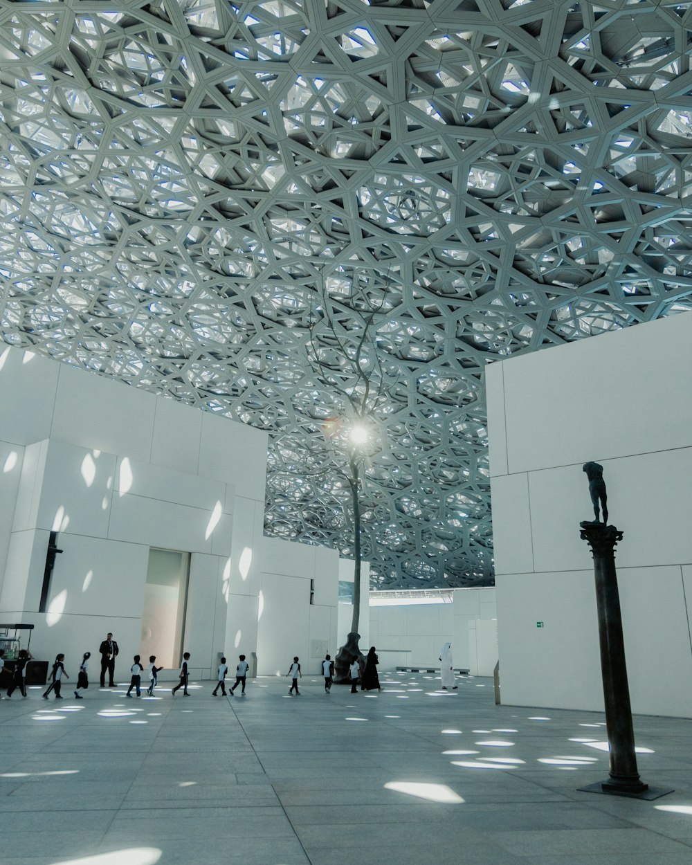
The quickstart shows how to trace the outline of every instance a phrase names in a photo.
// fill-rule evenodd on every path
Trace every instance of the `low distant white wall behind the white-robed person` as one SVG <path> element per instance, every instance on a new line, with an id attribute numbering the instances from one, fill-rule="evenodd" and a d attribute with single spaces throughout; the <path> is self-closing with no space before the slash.
<path id="1" fill-rule="evenodd" d="M 373 644 L 381 650 L 409 650 L 407 663 L 414 666 L 438 667 L 440 650 L 450 642 L 455 667 L 474 676 L 487 676 L 490 669 L 491 675 L 497 663 L 497 641 L 492 644 L 485 630 L 479 637 L 477 622 L 496 618 L 495 589 L 455 589 L 452 597 L 452 604 L 371 606 Z M 387 663 L 387 658 L 381 656 L 381 663 Z"/>

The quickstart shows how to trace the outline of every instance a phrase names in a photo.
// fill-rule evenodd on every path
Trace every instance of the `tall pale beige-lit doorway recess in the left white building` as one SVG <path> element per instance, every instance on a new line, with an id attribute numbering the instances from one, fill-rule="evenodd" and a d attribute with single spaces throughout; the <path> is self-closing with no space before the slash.
<path id="1" fill-rule="evenodd" d="M 150 549 L 139 641 L 139 654 L 144 666 L 150 655 L 156 655 L 158 667 L 176 667 L 180 663 L 188 577 L 189 553 Z"/>

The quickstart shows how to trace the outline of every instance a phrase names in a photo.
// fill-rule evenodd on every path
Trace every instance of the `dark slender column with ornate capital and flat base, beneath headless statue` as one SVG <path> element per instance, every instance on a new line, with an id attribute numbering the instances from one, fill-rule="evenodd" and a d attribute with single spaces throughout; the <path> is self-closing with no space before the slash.
<path id="1" fill-rule="evenodd" d="M 672 790 L 644 784 L 637 769 L 618 576 L 615 571 L 615 545 L 622 541 L 623 533 L 615 526 L 606 526 L 603 522 L 581 522 L 580 527 L 581 538 L 588 541 L 593 553 L 593 576 L 596 581 L 596 605 L 599 614 L 600 667 L 610 746 L 608 779 L 580 787 L 580 790 L 611 796 L 656 799 Z"/>

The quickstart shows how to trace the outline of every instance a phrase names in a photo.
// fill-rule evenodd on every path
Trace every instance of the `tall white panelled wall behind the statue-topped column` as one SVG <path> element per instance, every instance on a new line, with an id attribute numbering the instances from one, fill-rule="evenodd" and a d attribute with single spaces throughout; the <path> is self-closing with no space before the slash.
<path id="1" fill-rule="evenodd" d="M 632 709 L 692 714 L 692 316 L 486 371 L 503 702 L 602 709 L 593 520 L 604 466 Z M 543 627 L 536 627 L 543 622 Z"/>

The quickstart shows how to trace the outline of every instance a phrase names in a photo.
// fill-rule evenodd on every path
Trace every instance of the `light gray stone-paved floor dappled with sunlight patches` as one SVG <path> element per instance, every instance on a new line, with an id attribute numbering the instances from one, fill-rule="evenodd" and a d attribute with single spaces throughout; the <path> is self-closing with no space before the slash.
<path id="1" fill-rule="evenodd" d="M 231 699 L 208 682 L 189 698 L 16 692 L 0 703 L 0 861 L 692 862 L 692 722 L 635 719 L 643 779 L 676 788 L 640 802 L 576 789 L 606 778 L 599 714 L 496 707 L 487 679 L 381 679 L 374 695 L 325 695 L 317 676 L 299 697 L 276 678 Z"/>

